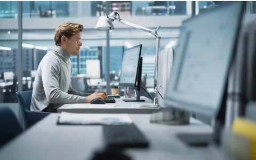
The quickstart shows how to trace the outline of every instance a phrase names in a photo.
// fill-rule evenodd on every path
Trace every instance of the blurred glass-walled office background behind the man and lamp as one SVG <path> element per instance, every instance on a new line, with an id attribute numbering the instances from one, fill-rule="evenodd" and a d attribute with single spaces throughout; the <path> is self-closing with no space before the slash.
<path id="1" fill-rule="evenodd" d="M 161 26 L 158 30 L 162 37 L 160 51 L 173 47 L 175 57 L 182 21 L 226 2 L 109 0 L 109 11 L 117 11 L 121 19 L 143 27 L 155 29 Z M 106 90 L 108 75 L 110 87 L 118 85 L 124 49 L 142 44 L 142 85 L 153 93 L 156 50 L 153 35 L 114 22 L 107 72 L 107 34 L 94 29 L 98 17 L 109 14 L 106 13 L 106 4 L 102 0 L 22 1 L 22 63 L 19 64 L 18 1 L 0 0 L 0 102 L 17 102 L 15 92 L 18 91 L 19 76 L 22 76 L 23 91 L 33 89 L 39 62 L 55 48 L 54 30 L 63 22 L 84 26 L 83 46 L 78 55 L 70 58 L 74 89 L 81 92 Z M 255 11 L 256 3 L 247 1 L 245 13 L 253 14 Z M 19 68 L 22 68 L 21 74 Z"/>

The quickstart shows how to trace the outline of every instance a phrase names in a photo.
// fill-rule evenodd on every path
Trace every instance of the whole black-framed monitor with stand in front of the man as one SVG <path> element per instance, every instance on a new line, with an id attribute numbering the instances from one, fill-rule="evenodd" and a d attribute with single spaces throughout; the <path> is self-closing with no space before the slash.
<path id="1" fill-rule="evenodd" d="M 142 57 L 140 57 L 141 48 L 142 44 L 124 50 L 119 86 L 137 87 L 137 95 L 136 99 L 123 99 L 123 101 L 145 101 L 140 99 L 142 70 Z"/>

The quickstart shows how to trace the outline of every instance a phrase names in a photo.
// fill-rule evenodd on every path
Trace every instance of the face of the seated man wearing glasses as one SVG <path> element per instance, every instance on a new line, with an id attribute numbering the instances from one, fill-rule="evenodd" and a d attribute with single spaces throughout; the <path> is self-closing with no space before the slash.
<path id="1" fill-rule="evenodd" d="M 79 49 L 82 46 L 81 31 L 78 31 L 75 35 L 71 36 L 69 39 L 66 38 L 65 42 L 66 51 L 71 55 L 77 55 Z"/>

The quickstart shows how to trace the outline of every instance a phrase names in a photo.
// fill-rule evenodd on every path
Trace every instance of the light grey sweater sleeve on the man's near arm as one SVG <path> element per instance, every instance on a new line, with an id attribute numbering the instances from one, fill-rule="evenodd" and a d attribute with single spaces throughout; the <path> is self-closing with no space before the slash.
<path id="1" fill-rule="evenodd" d="M 60 66 L 54 56 L 45 57 L 41 71 L 43 87 L 49 103 L 85 103 L 85 97 L 68 94 L 60 90 Z"/>

